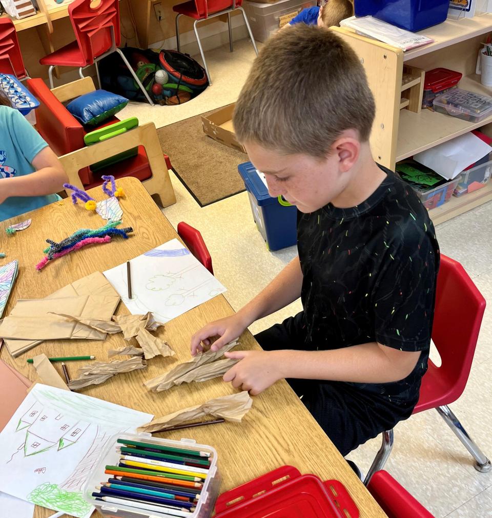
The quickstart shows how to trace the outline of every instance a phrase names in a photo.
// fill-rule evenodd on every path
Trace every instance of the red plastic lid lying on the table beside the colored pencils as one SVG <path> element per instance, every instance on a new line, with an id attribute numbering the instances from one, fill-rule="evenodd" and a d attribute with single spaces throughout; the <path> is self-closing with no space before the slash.
<path id="1" fill-rule="evenodd" d="M 215 518 L 358 518 L 359 510 L 338 480 L 323 482 L 282 466 L 223 493 Z"/>

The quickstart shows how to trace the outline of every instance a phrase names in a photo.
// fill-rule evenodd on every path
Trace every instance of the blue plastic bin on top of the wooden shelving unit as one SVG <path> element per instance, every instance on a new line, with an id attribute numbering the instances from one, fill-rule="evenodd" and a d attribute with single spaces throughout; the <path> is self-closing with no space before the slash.
<path id="1" fill-rule="evenodd" d="M 355 16 L 373 16 L 407 31 L 442 23 L 449 0 L 355 0 Z"/>

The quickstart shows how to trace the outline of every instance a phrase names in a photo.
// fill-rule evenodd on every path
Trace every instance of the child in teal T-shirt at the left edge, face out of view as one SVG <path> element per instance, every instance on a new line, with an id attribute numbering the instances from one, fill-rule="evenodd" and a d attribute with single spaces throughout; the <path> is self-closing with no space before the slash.
<path id="1" fill-rule="evenodd" d="M 56 155 L 0 91 L 0 221 L 56 202 L 65 182 Z"/>

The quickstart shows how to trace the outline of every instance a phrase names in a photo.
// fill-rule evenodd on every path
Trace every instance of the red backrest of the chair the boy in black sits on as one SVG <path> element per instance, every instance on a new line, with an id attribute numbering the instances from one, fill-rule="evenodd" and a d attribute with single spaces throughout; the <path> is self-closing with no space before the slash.
<path id="1" fill-rule="evenodd" d="M 439 376 L 453 385 L 453 400 L 468 381 L 484 311 L 485 299 L 465 269 L 441 255 L 432 340 L 441 356 Z"/>

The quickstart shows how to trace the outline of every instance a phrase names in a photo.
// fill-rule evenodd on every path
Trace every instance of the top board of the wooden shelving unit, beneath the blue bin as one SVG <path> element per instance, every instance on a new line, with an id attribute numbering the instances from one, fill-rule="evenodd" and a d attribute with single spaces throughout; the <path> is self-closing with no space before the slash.
<path id="1" fill-rule="evenodd" d="M 414 59 L 414 57 L 423 56 L 424 54 L 449 47 L 460 41 L 489 33 L 491 28 L 492 13 L 475 16 L 473 18 L 463 18 L 459 21 L 446 20 L 444 23 L 429 27 L 425 31 L 420 31 L 418 34 L 432 38 L 434 40 L 433 43 L 407 50 L 407 52 L 403 53 L 403 61 L 409 61 Z"/>

